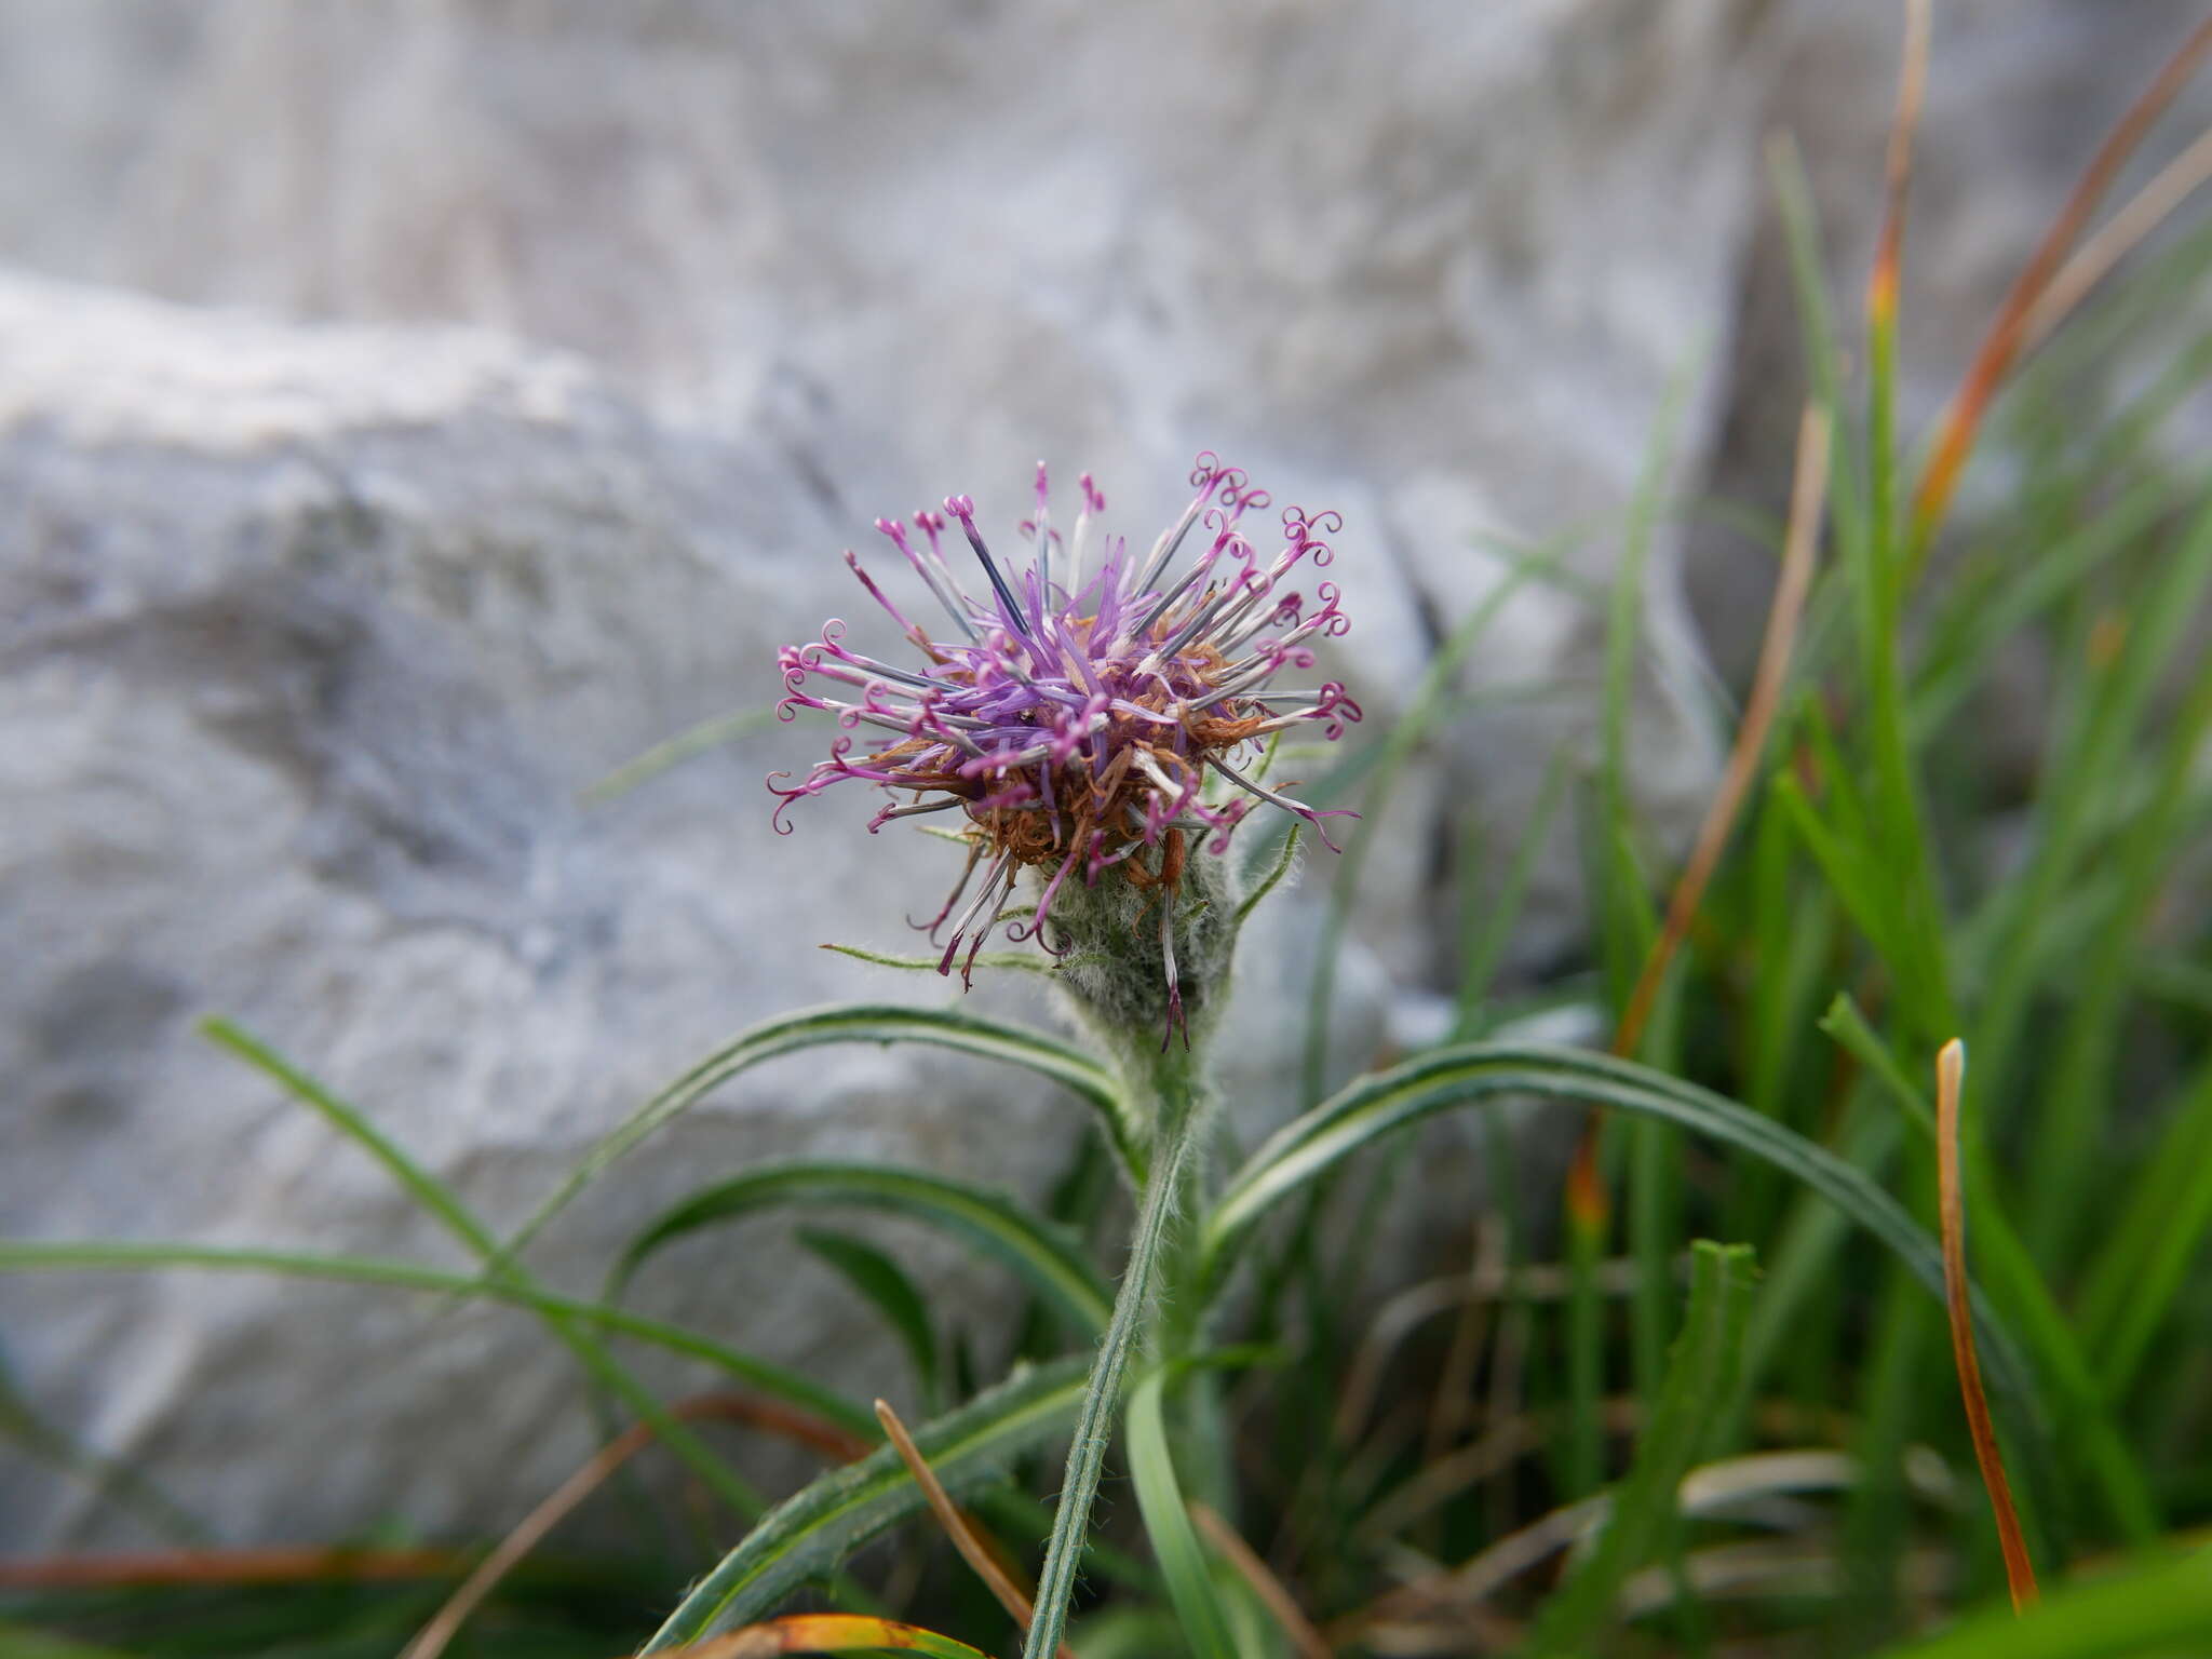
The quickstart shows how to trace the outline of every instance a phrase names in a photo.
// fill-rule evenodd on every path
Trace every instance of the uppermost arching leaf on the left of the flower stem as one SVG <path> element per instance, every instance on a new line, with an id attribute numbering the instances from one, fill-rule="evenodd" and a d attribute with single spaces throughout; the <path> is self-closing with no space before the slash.
<path id="1" fill-rule="evenodd" d="M 765 1060 L 776 1060 L 779 1055 L 832 1042 L 918 1042 L 982 1060 L 1004 1060 L 1011 1066 L 1035 1071 L 1095 1108 L 1124 1168 L 1144 1170 L 1144 1128 L 1135 1110 L 1113 1075 L 1075 1048 L 1035 1031 L 1022 1031 L 1020 1026 L 982 1020 L 971 1013 L 951 1013 L 949 1009 L 841 1002 L 827 1009 L 807 1009 L 763 1020 L 668 1084 L 584 1155 L 553 1197 L 538 1206 L 538 1212 L 507 1241 L 502 1256 L 518 1254 L 555 1214 L 568 1208 L 577 1192 L 606 1175 L 617 1159 L 741 1071 L 759 1066 Z"/>

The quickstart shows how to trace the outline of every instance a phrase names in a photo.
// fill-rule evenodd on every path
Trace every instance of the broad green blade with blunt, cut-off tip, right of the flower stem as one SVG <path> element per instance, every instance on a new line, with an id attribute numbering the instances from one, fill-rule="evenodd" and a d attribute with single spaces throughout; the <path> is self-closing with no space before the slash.
<path id="1" fill-rule="evenodd" d="M 1672 1524 L 1674 1493 L 1705 1438 L 1712 1402 L 1736 1389 L 1754 1276 L 1747 1245 L 1723 1248 L 1701 1239 L 1690 1248 L 1690 1307 L 1637 1438 L 1635 1464 L 1613 1493 L 1597 1548 L 1537 1615 L 1528 1644 L 1533 1655 L 1584 1652 L 1613 1613 L 1628 1573 L 1650 1559 Z"/>

